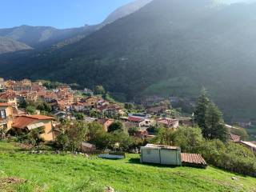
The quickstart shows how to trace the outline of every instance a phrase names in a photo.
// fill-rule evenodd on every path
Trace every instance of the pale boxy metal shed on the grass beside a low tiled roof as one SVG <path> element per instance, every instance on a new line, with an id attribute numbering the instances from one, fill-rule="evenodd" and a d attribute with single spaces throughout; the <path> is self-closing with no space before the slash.
<path id="1" fill-rule="evenodd" d="M 178 146 L 147 144 L 141 147 L 141 162 L 181 166 L 181 148 Z"/>

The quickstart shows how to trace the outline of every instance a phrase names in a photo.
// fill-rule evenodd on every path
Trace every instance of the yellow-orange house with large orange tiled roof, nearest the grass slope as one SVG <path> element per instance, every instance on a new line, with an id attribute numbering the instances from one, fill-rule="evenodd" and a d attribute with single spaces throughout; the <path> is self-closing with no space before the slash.
<path id="1" fill-rule="evenodd" d="M 14 130 L 30 131 L 40 129 L 40 136 L 46 142 L 54 140 L 53 122 L 54 118 L 44 115 L 26 115 L 14 118 L 12 125 Z"/>

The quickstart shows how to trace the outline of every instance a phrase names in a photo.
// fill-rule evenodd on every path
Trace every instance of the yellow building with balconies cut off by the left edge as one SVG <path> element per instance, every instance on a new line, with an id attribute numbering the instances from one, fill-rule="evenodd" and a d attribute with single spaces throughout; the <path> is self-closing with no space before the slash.
<path id="1" fill-rule="evenodd" d="M 14 111 L 10 103 L 0 102 L 0 130 L 10 130 L 14 120 Z"/>

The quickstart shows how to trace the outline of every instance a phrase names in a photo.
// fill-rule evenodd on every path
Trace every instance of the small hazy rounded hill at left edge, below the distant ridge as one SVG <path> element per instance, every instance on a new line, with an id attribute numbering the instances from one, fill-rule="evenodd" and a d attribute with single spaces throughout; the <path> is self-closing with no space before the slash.
<path id="1" fill-rule="evenodd" d="M 31 50 L 30 46 L 22 42 L 14 41 L 10 38 L 0 37 L 0 54 L 6 54 L 10 52 L 15 52 L 18 50 Z"/>

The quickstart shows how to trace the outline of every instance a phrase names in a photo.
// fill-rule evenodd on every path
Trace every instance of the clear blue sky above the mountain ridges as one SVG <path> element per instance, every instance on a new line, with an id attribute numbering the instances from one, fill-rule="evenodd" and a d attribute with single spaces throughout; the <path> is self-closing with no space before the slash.
<path id="1" fill-rule="evenodd" d="M 97 24 L 133 0 L 1 0 L 0 28 Z"/>

